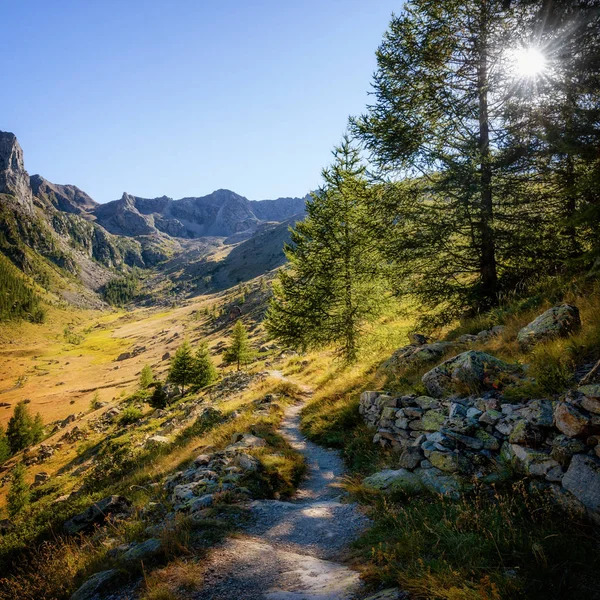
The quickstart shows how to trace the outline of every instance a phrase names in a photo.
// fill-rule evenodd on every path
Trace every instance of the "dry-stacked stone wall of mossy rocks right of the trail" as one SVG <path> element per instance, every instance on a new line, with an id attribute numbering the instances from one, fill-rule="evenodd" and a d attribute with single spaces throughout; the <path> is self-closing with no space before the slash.
<path id="1" fill-rule="evenodd" d="M 416 474 L 423 483 L 443 480 L 434 491 L 455 491 L 516 470 L 600 516 L 600 385 L 525 404 L 495 391 L 442 399 L 368 391 L 359 410 L 373 441 L 399 452 L 401 469 L 384 472 L 386 481 L 396 473 L 414 488 Z"/>

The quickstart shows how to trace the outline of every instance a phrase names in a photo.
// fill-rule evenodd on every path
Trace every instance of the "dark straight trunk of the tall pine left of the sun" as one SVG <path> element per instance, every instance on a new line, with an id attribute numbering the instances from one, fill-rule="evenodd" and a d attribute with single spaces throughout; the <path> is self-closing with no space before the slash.
<path id="1" fill-rule="evenodd" d="M 482 2 L 478 39 L 477 91 L 479 100 L 479 153 L 481 176 L 480 207 L 480 268 L 481 295 L 484 306 L 493 306 L 498 300 L 498 275 L 496 271 L 496 245 L 494 240 L 492 203 L 492 161 L 490 153 L 490 123 L 488 115 L 488 3 Z"/>

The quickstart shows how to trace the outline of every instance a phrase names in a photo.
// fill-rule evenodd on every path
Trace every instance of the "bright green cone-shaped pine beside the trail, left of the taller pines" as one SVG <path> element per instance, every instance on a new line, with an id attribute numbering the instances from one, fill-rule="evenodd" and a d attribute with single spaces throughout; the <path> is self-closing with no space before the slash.
<path id="1" fill-rule="evenodd" d="M 384 289 L 380 240 L 359 152 L 344 138 L 307 217 L 286 246 L 290 266 L 273 286 L 267 330 L 285 345 L 307 349 L 335 343 L 356 358 L 366 322 L 380 314 Z"/>

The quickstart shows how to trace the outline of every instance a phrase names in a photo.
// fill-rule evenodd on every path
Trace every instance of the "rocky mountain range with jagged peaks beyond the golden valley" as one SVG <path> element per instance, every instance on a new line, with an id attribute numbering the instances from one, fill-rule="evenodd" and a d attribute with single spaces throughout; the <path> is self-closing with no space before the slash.
<path id="1" fill-rule="evenodd" d="M 305 203 L 220 189 L 180 200 L 124 193 L 98 204 L 74 185 L 30 177 L 17 138 L 0 131 L 0 252 L 40 283 L 51 273 L 53 290 L 80 305 L 97 304 L 95 293 L 132 267 L 187 282 L 188 293 L 261 275 L 285 262 L 288 226 Z M 199 279 L 209 283 L 201 289 Z"/>

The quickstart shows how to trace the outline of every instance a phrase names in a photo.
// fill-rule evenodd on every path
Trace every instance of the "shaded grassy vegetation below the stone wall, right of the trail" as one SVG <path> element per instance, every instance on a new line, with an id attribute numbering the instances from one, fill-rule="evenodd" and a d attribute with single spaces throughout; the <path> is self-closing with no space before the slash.
<path id="1" fill-rule="evenodd" d="M 367 581 L 411 598 L 592 598 L 600 557 L 589 524 L 517 483 L 460 500 L 390 501 L 354 487 L 375 526 L 356 544 Z"/>

